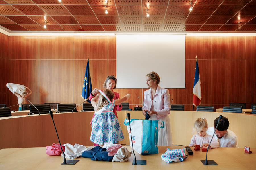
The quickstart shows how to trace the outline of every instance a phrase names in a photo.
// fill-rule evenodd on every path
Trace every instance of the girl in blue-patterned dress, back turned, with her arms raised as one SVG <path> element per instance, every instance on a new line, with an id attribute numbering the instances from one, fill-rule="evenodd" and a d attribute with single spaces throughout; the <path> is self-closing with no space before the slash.
<path id="1" fill-rule="evenodd" d="M 113 100 L 115 95 L 111 90 L 105 89 L 103 91 L 99 90 L 99 92 L 91 100 L 95 116 L 92 119 L 90 141 L 100 146 L 103 146 L 106 142 L 117 144 L 124 137 L 113 108 L 115 105 L 119 105 L 129 99 L 130 94 L 121 99 Z M 96 96 L 99 97 L 98 102 L 96 102 Z"/>

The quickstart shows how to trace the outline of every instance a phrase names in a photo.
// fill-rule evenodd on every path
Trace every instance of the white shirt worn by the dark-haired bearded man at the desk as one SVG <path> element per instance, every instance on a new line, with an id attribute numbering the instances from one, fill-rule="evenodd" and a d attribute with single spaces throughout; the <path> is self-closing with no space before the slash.
<path id="1" fill-rule="evenodd" d="M 214 133 L 214 127 L 208 128 L 208 134 L 213 135 L 213 133 Z M 237 142 L 238 139 L 236 137 L 236 134 L 231 130 L 227 130 L 226 134 L 221 139 L 218 139 L 216 134 L 214 134 L 213 137 L 220 143 L 220 147 L 238 148 L 238 142 Z"/>

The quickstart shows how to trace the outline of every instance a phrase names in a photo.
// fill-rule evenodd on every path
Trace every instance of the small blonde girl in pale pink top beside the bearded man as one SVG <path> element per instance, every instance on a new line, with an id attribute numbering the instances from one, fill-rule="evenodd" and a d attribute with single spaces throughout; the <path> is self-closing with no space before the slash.
<path id="1" fill-rule="evenodd" d="M 211 135 L 206 133 L 208 129 L 208 124 L 205 118 L 198 118 L 195 121 L 193 130 L 197 131 L 197 134 L 193 135 L 189 146 L 195 147 L 195 145 L 200 145 L 200 147 L 208 147 L 212 139 Z M 218 148 L 220 144 L 214 138 L 209 148 Z"/>

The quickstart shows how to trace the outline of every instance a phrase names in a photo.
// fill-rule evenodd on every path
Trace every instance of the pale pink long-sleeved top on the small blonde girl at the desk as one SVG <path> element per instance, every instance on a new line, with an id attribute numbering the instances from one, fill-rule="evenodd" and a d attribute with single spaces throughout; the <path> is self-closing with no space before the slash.
<path id="1" fill-rule="evenodd" d="M 204 137 L 200 137 L 199 135 L 195 134 L 193 135 L 192 139 L 191 139 L 191 142 L 189 144 L 189 146 L 192 146 L 192 145 L 201 145 L 203 143 L 208 143 L 210 144 L 210 141 L 212 139 L 212 136 L 211 135 L 208 135 L 207 133 L 205 134 Z M 218 143 L 218 141 L 216 141 L 214 138 L 212 139 L 212 143 L 210 145 L 209 148 L 218 148 L 220 146 L 220 144 Z"/>

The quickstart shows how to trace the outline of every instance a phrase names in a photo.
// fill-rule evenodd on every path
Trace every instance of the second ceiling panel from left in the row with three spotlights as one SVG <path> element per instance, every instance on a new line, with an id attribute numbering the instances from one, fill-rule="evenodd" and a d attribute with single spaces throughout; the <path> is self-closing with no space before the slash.
<path id="1" fill-rule="evenodd" d="M 20 12 L 22 12 L 25 15 L 47 15 L 46 12 L 44 12 L 41 8 L 39 8 L 37 5 L 12 5 L 16 9 L 18 9 Z"/>

